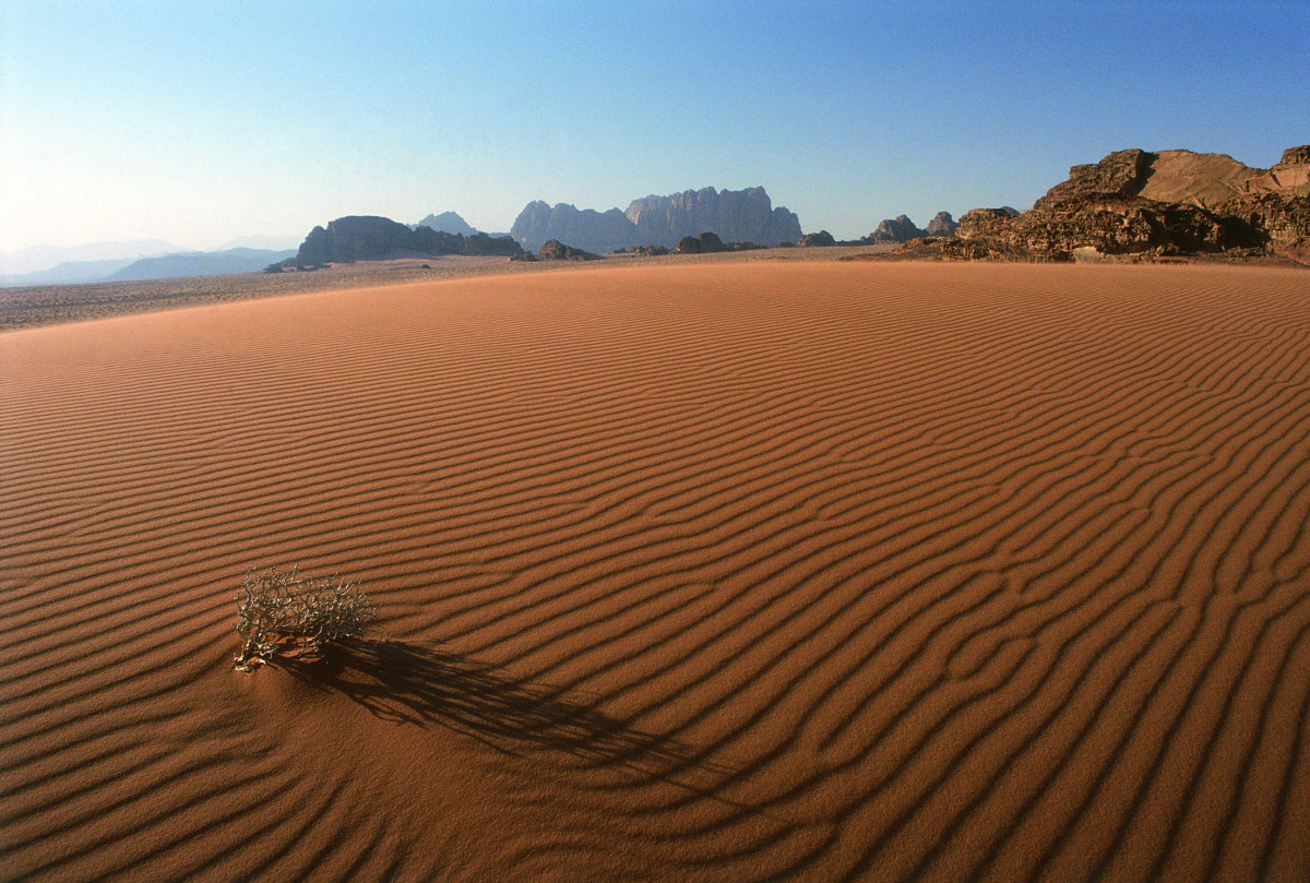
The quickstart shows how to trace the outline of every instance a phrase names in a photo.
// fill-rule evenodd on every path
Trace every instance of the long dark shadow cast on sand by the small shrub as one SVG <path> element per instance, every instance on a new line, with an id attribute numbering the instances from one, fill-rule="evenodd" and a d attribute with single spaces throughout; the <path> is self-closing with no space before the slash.
<path id="1" fill-rule="evenodd" d="M 421 643 L 356 641 L 330 646 L 322 658 L 279 658 L 276 664 L 384 721 L 447 727 L 510 755 L 562 751 L 587 766 L 630 766 L 658 777 L 698 765 L 671 738 L 639 732 L 565 690 Z"/>

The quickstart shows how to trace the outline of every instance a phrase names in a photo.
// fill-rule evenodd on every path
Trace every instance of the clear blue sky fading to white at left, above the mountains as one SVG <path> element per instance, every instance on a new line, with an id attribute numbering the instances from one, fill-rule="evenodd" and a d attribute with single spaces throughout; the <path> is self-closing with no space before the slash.
<path id="1" fill-rule="evenodd" d="M 0 0 L 0 250 L 764 185 L 806 231 L 1310 141 L 1310 3 Z"/>

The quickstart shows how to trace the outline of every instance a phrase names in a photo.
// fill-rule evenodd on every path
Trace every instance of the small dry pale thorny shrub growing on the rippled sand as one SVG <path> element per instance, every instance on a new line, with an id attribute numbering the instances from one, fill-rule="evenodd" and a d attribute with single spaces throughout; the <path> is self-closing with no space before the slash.
<path id="1" fill-rule="evenodd" d="M 376 617 L 377 605 L 356 583 L 338 576 L 301 576 L 299 566 L 291 573 L 250 569 L 237 592 L 237 668 L 262 666 L 287 643 L 304 654 L 343 638 L 359 638 Z"/>

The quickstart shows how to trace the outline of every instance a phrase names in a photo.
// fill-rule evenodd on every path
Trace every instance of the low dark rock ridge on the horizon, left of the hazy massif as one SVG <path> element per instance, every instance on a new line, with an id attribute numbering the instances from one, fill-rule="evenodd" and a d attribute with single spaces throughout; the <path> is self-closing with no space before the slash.
<path id="1" fill-rule="evenodd" d="M 514 255 L 519 244 L 510 237 L 493 238 L 486 233 L 464 236 L 431 227 L 410 229 L 405 224 L 376 215 L 348 215 L 316 227 L 300 244 L 290 266 L 321 266 L 351 261 L 380 261 L 394 257 L 438 257 L 443 254 Z"/>

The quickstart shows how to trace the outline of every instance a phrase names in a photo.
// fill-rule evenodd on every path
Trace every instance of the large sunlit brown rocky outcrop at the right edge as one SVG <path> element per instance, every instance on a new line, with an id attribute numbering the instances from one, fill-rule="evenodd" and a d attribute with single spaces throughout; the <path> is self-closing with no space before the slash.
<path id="1" fill-rule="evenodd" d="M 1293 253 L 1310 248 L 1310 147 L 1271 169 L 1221 153 L 1115 151 L 1076 165 L 1032 210 L 975 208 L 942 252 L 1068 261 L 1107 254 Z"/>

